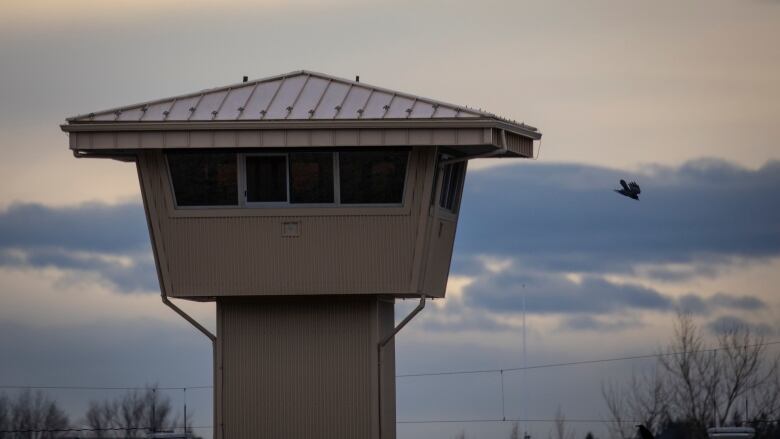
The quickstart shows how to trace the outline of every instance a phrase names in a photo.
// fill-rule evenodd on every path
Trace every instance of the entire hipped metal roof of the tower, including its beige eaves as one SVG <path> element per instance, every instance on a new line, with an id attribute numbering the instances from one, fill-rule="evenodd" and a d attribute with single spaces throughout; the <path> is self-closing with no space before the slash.
<path id="1" fill-rule="evenodd" d="M 89 113 L 61 125 L 78 153 L 178 148 L 440 146 L 530 157 L 534 127 L 474 108 L 297 71 Z"/>

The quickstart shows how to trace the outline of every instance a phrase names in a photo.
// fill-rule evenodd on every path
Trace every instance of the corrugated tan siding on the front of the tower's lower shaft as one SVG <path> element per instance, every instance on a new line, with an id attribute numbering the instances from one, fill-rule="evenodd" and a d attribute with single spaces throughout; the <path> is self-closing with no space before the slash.
<path id="1" fill-rule="evenodd" d="M 220 299 L 218 313 L 223 438 L 376 437 L 377 328 L 393 324 L 377 298 Z"/>

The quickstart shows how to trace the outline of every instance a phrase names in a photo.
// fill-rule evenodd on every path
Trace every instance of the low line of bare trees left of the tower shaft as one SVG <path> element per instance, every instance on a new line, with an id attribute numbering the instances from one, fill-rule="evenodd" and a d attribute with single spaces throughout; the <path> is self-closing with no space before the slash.
<path id="1" fill-rule="evenodd" d="M 145 438 L 150 432 L 184 428 L 170 398 L 155 388 L 91 401 L 84 418 L 71 422 L 57 402 L 41 391 L 0 394 L 0 439 Z M 191 433 L 191 438 L 197 436 Z"/>

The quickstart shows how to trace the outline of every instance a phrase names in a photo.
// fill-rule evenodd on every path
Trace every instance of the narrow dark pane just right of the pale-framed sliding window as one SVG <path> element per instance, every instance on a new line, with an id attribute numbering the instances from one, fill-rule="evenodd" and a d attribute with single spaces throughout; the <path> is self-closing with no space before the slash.
<path id="1" fill-rule="evenodd" d="M 290 153 L 290 202 L 333 202 L 333 153 Z"/>

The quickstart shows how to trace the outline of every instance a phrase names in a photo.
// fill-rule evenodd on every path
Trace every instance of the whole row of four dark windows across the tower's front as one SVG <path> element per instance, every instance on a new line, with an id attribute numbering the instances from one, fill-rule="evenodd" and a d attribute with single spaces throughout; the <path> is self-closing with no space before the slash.
<path id="1" fill-rule="evenodd" d="M 403 204 L 408 149 L 166 154 L 179 207 Z"/>

